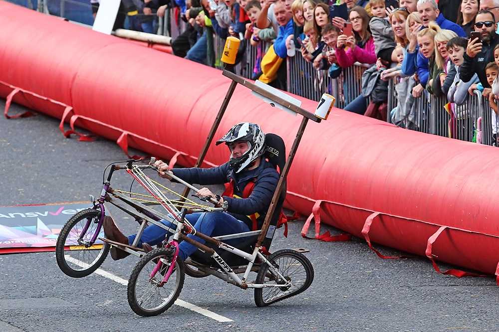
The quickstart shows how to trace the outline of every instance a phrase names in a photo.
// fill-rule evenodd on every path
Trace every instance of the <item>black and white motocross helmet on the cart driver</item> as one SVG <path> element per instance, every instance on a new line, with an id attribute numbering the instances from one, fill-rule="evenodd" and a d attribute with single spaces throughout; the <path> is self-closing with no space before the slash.
<path id="1" fill-rule="evenodd" d="M 231 143 L 240 141 L 247 142 L 249 149 L 239 158 L 231 156 L 229 164 L 236 173 L 248 167 L 251 162 L 265 152 L 265 134 L 261 131 L 260 126 L 249 122 L 242 122 L 232 127 L 224 137 L 217 141 L 216 145 L 225 143 L 230 147 Z"/>

